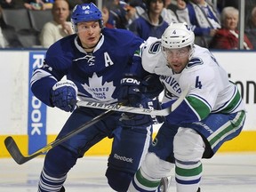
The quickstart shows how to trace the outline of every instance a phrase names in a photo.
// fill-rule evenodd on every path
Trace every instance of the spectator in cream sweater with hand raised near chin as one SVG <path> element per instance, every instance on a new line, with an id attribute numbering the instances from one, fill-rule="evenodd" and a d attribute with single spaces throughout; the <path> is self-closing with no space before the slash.
<path id="1" fill-rule="evenodd" d="M 40 34 L 40 43 L 48 48 L 64 36 L 73 34 L 72 24 L 68 20 L 69 7 L 66 0 L 56 0 L 52 7 L 53 20 L 44 24 Z"/>

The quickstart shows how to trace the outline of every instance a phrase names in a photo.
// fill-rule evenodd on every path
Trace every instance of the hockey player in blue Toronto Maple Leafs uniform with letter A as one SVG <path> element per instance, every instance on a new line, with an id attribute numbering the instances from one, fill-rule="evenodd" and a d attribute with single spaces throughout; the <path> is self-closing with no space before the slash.
<path id="1" fill-rule="evenodd" d="M 52 44 L 46 52 L 44 66 L 37 68 L 31 78 L 31 90 L 39 100 L 50 107 L 72 112 L 58 138 L 105 111 L 76 108 L 73 102 L 76 95 L 80 100 L 104 104 L 123 100 L 126 105 L 136 107 L 145 100 L 140 82 L 148 76 L 136 54 L 143 40 L 128 30 L 103 28 L 102 15 L 95 4 L 76 5 L 71 21 L 76 34 Z M 61 80 L 63 76 L 67 76 L 67 80 Z M 106 172 L 108 184 L 116 191 L 127 191 L 148 150 L 151 131 L 150 116 L 108 115 L 49 150 L 38 191 L 65 191 L 63 183 L 77 158 L 106 137 L 113 138 Z"/>

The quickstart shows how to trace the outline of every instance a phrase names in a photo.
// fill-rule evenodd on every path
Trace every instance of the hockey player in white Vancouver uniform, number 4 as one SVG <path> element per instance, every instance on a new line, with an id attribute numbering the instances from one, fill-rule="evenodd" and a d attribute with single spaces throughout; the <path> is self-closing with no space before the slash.
<path id="1" fill-rule="evenodd" d="M 212 53 L 194 40 L 186 23 L 172 23 L 161 39 L 148 38 L 141 46 L 143 67 L 157 74 L 158 87 L 164 87 L 162 107 L 170 107 L 181 92 L 188 90 L 188 94 L 166 116 L 130 192 L 156 191 L 161 178 L 170 176 L 174 166 L 178 192 L 200 191 L 201 159 L 211 158 L 244 126 L 244 103 L 236 84 L 228 80 Z M 151 81 L 154 87 L 156 81 Z"/>

